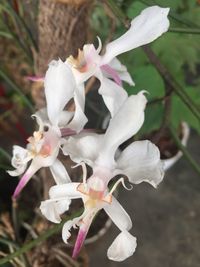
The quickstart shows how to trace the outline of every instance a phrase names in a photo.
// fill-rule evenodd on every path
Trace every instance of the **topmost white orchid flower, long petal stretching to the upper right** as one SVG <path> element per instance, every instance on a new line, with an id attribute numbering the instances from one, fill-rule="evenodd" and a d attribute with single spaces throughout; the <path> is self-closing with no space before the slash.
<path id="1" fill-rule="evenodd" d="M 106 46 L 103 56 L 99 55 L 102 45 L 98 38 L 99 47 L 97 49 L 93 44 L 86 44 L 83 46 L 83 50 L 79 49 L 77 58 L 73 56 L 67 58 L 67 63 L 72 67 L 77 84 L 82 84 L 91 76 L 96 76 L 100 80 L 99 93 L 111 116 L 117 112 L 128 97 L 121 87 L 122 81 L 134 85 L 127 68 L 116 57 L 148 44 L 165 33 L 169 28 L 168 13 L 169 8 L 148 7 L 131 21 L 131 26 L 125 34 Z M 108 78 L 112 78 L 114 82 Z M 114 106 L 115 103 L 118 103 L 117 107 Z"/>

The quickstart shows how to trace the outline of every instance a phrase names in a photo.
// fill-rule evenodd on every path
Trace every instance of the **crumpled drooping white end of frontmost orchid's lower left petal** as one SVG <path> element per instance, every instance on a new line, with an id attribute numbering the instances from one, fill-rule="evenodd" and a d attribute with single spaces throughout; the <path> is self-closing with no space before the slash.
<path id="1" fill-rule="evenodd" d="M 60 223 L 61 217 L 69 209 L 71 200 L 67 197 L 58 199 L 48 199 L 41 202 L 41 213 L 51 222 Z"/>

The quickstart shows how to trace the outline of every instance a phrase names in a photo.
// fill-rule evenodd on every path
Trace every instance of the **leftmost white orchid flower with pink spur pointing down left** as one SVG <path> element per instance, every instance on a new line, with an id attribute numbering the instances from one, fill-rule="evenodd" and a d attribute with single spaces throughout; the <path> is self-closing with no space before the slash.
<path id="1" fill-rule="evenodd" d="M 13 197 L 16 198 L 30 178 L 42 167 L 50 167 L 55 182 L 67 183 L 70 178 L 65 167 L 57 159 L 59 148 L 63 142 L 62 132 L 66 135 L 79 133 L 87 122 L 84 114 L 84 99 L 76 89 L 71 69 L 61 60 L 52 61 L 46 72 L 45 96 L 47 110 L 40 110 L 36 117 L 38 131 L 28 138 L 26 149 L 14 146 L 12 166 L 14 171 L 8 171 L 11 176 L 23 174 Z M 64 111 L 65 105 L 74 98 L 75 112 Z M 60 129 L 65 125 L 66 128 Z M 27 168 L 27 163 L 31 161 Z M 26 170 L 26 171 L 25 171 Z"/>

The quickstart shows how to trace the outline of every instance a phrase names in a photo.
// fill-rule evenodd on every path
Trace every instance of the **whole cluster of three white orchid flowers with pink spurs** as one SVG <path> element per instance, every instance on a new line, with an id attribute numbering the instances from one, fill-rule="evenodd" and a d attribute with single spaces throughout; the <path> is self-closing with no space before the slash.
<path id="1" fill-rule="evenodd" d="M 144 122 L 147 103 L 145 92 L 128 96 L 122 82 L 134 85 L 127 68 L 116 58 L 119 54 L 148 44 L 169 28 L 169 8 L 146 8 L 132 20 L 129 30 L 106 46 L 100 55 L 101 41 L 96 49 L 86 44 L 77 58 L 69 56 L 65 62 L 52 61 L 43 79 L 46 108 L 35 115 L 38 130 L 28 138 L 26 148 L 14 146 L 12 176 L 22 175 L 13 197 L 16 198 L 30 178 L 42 167 L 49 167 L 56 185 L 49 191 L 49 199 L 42 201 L 42 214 L 54 223 L 60 223 L 61 214 L 69 209 L 71 200 L 81 198 L 84 212 L 80 217 L 67 221 L 62 237 L 67 243 L 70 229 L 79 227 L 73 250 L 75 258 L 86 238 L 96 213 L 104 209 L 120 230 L 108 249 L 108 258 L 123 261 L 136 248 L 136 238 L 129 233 L 132 222 L 129 215 L 113 196 L 124 177 L 132 184 L 148 182 L 156 187 L 163 179 L 163 166 L 158 148 L 150 141 L 136 141 L 123 151 L 119 146 L 136 134 Z M 100 81 L 99 94 L 110 112 L 110 122 L 104 134 L 84 129 L 84 83 L 92 76 Z M 145 76 L 145 74 L 144 74 Z M 66 105 L 73 99 L 74 111 Z M 83 167 L 83 181 L 72 182 L 64 165 L 58 160 L 59 150 Z M 28 162 L 29 167 L 27 168 Z M 92 168 L 87 177 L 86 165 Z M 117 175 L 111 189 L 108 183 Z M 129 188 L 127 188 L 129 189 Z"/>

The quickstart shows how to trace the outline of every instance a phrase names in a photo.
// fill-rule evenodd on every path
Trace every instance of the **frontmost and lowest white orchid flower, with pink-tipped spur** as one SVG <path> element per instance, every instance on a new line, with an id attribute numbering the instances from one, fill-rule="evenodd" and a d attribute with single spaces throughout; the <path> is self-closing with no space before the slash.
<path id="1" fill-rule="evenodd" d="M 111 119 L 105 134 L 90 133 L 70 137 L 63 148 L 64 152 L 70 151 L 72 160 L 82 164 L 83 183 L 53 186 L 49 192 L 50 199 L 43 201 L 40 208 L 47 219 L 59 223 L 60 215 L 69 208 L 69 199 L 83 200 L 83 214 L 67 221 L 62 231 L 63 240 L 67 242 L 71 227 L 79 227 L 73 257 L 78 255 L 90 224 L 101 209 L 105 210 L 121 231 L 108 249 L 108 258 L 123 261 L 135 251 L 136 238 L 129 233 L 132 227 L 131 219 L 113 196 L 119 183 L 126 187 L 124 178 L 119 179 L 110 191 L 108 183 L 120 174 L 127 176 L 131 183 L 145 181 L 156 187 L 163 178 L 159 150 L 150 141 L 134 142 L 118 153 L 116 158 L 119 146 L 141 128 L 145 105 L 146 97 L 143 92 L 130 96 Z M 93 169 L 93 174 L 88 179 L 85 163 Z"/>

